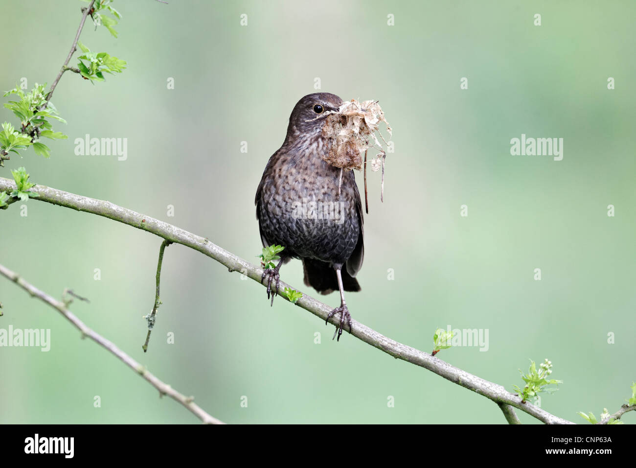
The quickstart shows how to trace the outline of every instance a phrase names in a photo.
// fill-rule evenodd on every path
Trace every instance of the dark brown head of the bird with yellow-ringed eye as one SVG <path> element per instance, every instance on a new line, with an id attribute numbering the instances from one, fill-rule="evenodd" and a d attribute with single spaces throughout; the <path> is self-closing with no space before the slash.
<path id="1" fill-rule="evenodd" d="M 316 137 L 322 130 L 324 118 L 328 111 L 338 111 L 342 99 L 328 92 L 307 94 L 296 103 L 289 116 L 286 142 L 301 138 Z"/>

